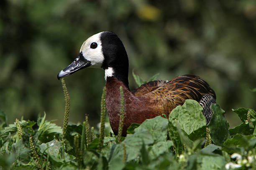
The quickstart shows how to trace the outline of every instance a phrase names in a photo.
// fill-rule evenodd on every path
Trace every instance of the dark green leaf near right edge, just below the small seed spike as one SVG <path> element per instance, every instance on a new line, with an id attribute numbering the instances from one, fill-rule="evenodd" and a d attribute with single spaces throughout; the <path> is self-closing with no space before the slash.
<path id="1" fill-rule="evenodd" d="M 251 123 L 248 123 L 248 124 L 241 123 L 240 125 L 236 126 L 235 128 L 229 129 L 229 133 L 231 136 L 236 135 L 236 134 L 252 135 L 253 131 L 254 131 L 254 127 Z"/>

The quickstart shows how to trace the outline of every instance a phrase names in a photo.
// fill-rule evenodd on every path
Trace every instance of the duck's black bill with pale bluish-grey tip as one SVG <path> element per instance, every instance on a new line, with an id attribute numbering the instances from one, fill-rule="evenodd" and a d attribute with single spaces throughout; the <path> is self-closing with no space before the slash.
<path id="1" fill-rule="evenodd" d="M 90 61 L 86 60 L 84 57 L 79 55 L 69 66 L 61 70 L 57 77 L 58 79 L 60 79 L 62 77 L 71 75 L 74 72 L 81 70 L 85 67 L 89 67 L 90 65 Z"/>

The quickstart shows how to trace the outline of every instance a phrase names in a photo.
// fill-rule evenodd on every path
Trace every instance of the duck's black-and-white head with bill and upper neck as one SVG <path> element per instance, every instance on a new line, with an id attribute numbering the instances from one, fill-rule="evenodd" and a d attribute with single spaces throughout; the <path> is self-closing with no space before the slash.
<path id="1" fill-rule="evenodd" d="M 128 87 L 128 56 L 119 37 L 110 31 L 92 35 L 84 41 L 78 57 L 58 74 L 58 79 L 86 67 L 101 67 L 107 77 L 116 77 Z"/>

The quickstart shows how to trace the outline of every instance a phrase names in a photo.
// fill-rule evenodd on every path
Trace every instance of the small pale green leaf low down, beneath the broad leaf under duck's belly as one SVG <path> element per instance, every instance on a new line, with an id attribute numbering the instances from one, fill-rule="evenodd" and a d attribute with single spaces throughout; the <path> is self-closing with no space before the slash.
<path id="1" fill-rule="evenodd" d="M 150 158 L 156 159 L 159 155 L 170 152 L 169 149 L 171 146 L 174 146 L 174 143 L 171 140 L 167 140 L 166 142 L 161 141 L 154 144 L 149 151 Z"/>

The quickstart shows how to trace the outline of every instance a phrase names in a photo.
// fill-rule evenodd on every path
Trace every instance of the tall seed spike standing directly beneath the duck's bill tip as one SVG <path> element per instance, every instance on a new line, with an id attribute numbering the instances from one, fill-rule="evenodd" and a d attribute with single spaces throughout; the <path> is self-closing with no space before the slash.
<path id="1" fill-rule="evenodd" d="M 69 120 L 70 97 L 69 97 L 69 93 L 67 91 L 66 83 L 63 78 L 61 79 L 61 83 L 62 83 L 62 88 L 64 91 L 64 97 L 65 97 L 65 102 L 66 102 L 65 112 L 64 112 L 63 129 L 62 129 L 62 133 L 63 133 L 63 137 L 64 137 L 67 133 L 67 124 L 68 124 L 68 120 Z"/>

